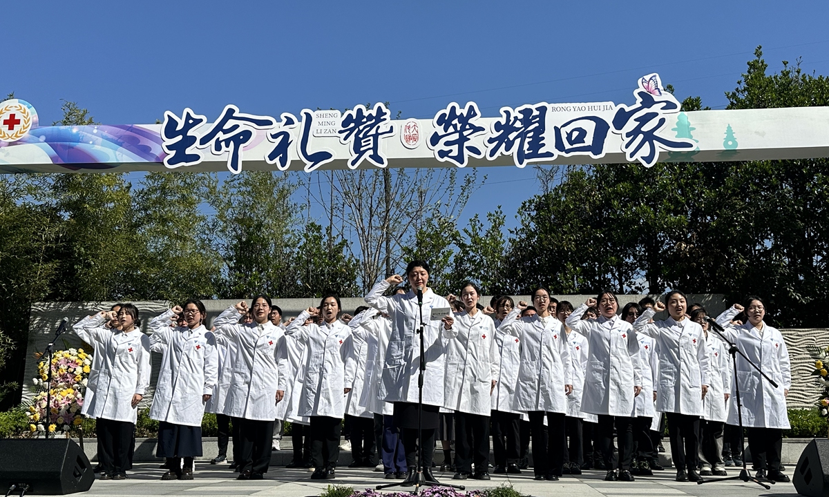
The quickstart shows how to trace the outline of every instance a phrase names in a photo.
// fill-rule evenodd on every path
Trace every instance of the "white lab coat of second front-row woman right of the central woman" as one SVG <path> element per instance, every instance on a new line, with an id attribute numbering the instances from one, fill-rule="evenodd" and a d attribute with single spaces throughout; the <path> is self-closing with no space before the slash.
<path id="1" fill-rule="evenodd" d="M 565 414 L 565 384 L 573 384 L 573 368 L 564 325 L 555 316 L 519 319 L 520 313 L 521 309 L 513 309 L 498 327 L 498 331 L 521 340 L 521 365 L 512 408 Z"/>

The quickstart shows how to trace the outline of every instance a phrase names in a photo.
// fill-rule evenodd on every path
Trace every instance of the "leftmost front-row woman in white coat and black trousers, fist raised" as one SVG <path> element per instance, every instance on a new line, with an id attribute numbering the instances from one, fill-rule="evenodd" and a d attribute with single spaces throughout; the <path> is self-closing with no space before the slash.
<path id="1" fill-rule="evenodd" d="M 114 320 L 119 328 L 105 326 Z M 150 383 L 150 340 L 138 326 L 138 309 L 122 304 L 118 312 L 101 311 L 71 328 L 92 345 L 98 359 L 90 369 L 90 394 L 80 413 L 96 420 L 101 480 L 124 480 L 130 467 L 137 407 Z"/>

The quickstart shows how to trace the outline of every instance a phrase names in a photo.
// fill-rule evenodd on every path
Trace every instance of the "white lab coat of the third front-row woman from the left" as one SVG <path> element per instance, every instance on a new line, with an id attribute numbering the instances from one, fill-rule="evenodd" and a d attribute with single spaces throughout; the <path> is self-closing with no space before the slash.
<path id="1" fill-rule="evenodd" d="M 276 391 L 280 388 L 278 353 L 281 327 L 270 321 L 262 324 L 240 324 L 244 316 L 235 307 L 228 307 L 213 326 L 216 336 L 235 343 L 235 355 L 230 359 L 233 369 L 230 388 L 223 414 L 256 421 L 276 419 Z"/>

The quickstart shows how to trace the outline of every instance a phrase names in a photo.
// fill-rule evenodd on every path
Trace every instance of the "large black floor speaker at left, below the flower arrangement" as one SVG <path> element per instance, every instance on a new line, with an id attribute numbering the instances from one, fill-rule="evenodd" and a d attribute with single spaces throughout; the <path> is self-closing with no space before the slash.
<path id="1" fill-rule="evenodd" d="M 28 494 L 90 490 L 95 474 L 80 446 L 68 438 L 0 440 L 0 490 L 29 485 Z"/>

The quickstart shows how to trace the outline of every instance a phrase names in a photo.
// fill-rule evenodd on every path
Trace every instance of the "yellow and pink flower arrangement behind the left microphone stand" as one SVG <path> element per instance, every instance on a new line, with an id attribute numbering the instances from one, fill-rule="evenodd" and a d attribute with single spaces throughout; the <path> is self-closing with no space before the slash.
<path id="1" fill-rule="evenodd" d="M 86 382 L 90 376 L 92 356 L 83 349 L 57 350 L 51 359 L 52 380 L 46 360 L 37 364 L 39 376 L 34 379 L 38 392 L 29 407 L 29 432 L 68 432 L 83 422 L 80 408 L 84 405 Z M 46 416 L 46 388 L 51 389 L 51 405 Z"/>

